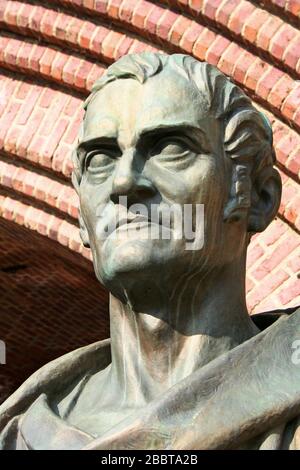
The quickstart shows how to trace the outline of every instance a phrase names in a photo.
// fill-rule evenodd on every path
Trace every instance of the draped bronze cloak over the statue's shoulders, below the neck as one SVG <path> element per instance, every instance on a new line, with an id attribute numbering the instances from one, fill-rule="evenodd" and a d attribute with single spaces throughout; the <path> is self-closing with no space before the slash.
<path id="1" fill-rule="evenodd" d="M 109 341 L 69 353 L 35 373 L 0 407 L 2 447 L 300 448 L 300 364 L 292 360 L 300 309 L 287 313 L 173 386 L 142 415 L 97 438 L 64 421 L 52 404 L 58 392 L 109 364 Z M 49 423 L 44 432 L 42 422 Z"/>

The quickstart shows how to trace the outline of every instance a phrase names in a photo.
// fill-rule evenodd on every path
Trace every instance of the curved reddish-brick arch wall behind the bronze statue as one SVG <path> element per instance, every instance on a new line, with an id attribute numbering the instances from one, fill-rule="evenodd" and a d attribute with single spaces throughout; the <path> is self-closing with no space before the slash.
<path id="1" fill-rule="evenodd" d="M 300 305 L 299 15 L 300 0 L 1 0 L 2 399 L 39 365 L 108 335 L 107 294 L 78 235 L 70 153 L 94 80 L 127 53 L 206 60 L 268 115 L 283 197 L 251 243 L 247 302 L 250 312 Z"/>

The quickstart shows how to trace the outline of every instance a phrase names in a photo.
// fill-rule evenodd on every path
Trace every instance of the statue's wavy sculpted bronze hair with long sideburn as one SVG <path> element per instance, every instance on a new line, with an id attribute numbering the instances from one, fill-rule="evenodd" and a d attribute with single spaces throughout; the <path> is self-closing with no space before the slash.
<path id="1" fill-rule="evenodd" d="M 204 111 L 223 125 L 224 151 L 233 164 L 232 188 L 225 219 L 232 216 L 233 212 L 238 217 L 240 210 L 250 207 L 251 181 L 262 169 L 273 168 L 275 152 L 272 129 L 266 116 L 217 68 L 184 54 L 144 52 L 127 55 L 108 67 L 106 73 L 95 82 L 84 109 L 108 83 L 125 78 L 144 83 L 166 68 L 187 79 L 195 87 L 196 93 L 201 95 Z M 82 134 L 83 126 L 79 132 L 79 142 Z M 72 181 L 78 190 L 82 168 L 76 150 L 73 163 Z"/>

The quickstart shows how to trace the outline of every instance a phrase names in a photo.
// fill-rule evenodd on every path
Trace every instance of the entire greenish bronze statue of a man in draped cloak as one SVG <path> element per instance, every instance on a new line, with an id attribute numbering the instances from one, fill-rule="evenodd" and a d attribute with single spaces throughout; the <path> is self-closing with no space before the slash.
<path id="1" fill-rule="evenodd" d="M 281 197 L 266 117 L 181 54 L 123 57 L 85 110 L 73 183 L 111 338 L 30 377 L 0 407 L 2 447 L 300 448 L 300 311 L 245 301 Z"/>

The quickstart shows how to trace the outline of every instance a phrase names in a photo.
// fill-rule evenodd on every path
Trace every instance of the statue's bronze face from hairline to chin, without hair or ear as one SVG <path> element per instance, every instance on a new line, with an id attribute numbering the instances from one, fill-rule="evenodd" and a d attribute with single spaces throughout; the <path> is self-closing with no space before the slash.
<path id="1" fill-rule="evenodd" d="M 222 128 L 183 77 L 163 71 L 144 84 L 106 85 L 88 106 L 79 158 L 96 275 L 116 295 L 138 281 L 175 283 L 226 263 L 228 248 L 236 252 L 223 222 L 230 169 Z M 184 230 L 180 236 L 177 216 L 170 223 L 161 216 L 185 204 L 192 208 L 190 240 Z M 204 227 L 197 226 L 197 204 L 204 205 Z"/>

